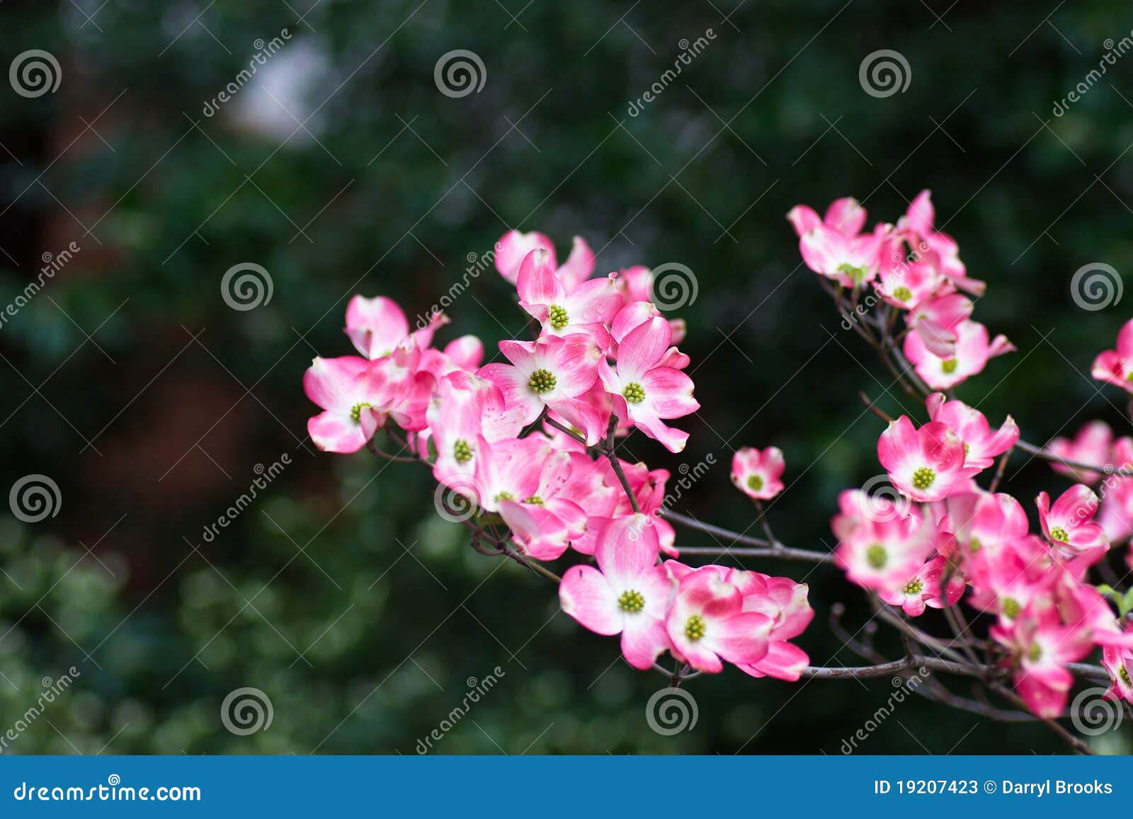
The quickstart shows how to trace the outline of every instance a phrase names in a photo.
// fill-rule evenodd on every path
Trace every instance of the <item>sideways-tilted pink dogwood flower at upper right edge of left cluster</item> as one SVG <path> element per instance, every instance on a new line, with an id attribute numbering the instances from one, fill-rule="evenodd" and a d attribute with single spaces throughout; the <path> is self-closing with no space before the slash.
<path id="1" fill-rule="evenodd" d="M 650 438 L 670 452 L 680 452 L 689 434 L 666 426 L 665 420 L 696 412 L 700 404 L 692 398 L 692 379 L 672 360 L 668 323 L 650 318 L 630 331 L 617 345 L 617 364 L 598 362 L 602 383 L 614 402 L 619 418 L 630 418 Z"/>

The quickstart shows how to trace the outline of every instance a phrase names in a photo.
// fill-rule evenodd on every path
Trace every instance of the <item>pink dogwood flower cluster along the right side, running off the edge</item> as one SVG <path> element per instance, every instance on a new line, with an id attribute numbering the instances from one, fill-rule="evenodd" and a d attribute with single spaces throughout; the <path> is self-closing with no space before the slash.
<path id="1" fill-rule="evenodd" d="M 1002 335 L 989 343 L 987 329 L 971 319 L 973 304 L 964 293 L 980 296 L 985 285 L 966 275 L 955 241 L 934 229 L 928 191 L 895 225 L 878 224 L 871 232 L 862 232 L 866 213 L 853 199 L 835 202 L 825 219 L 802 205 L 787 217 L 803 261 L 837 283 L 840 302 L 842 289 L 858 304 L 863 288 L 872 285 L 884 302 L 872 325 L 883 353 L 893 322 L 904 318 L 904 357 L 928 393 L 927 423 L 918 426 L 902 416 L 877 443 L 896 494 L 842 493 L 832 521 L 837 564 L 851 581 L 908 616 L 953 606 L 968 594 L 971 606 L 996 617 L 990 648 L 998 647 L 1017 694 L 1039 716 L 1062 714 L 1073 683 L 1067 665 L 1098 646 L 1114 676 L 1111 692 L 1133 701 L 1124 666 L 1133 656 L 1133 633 L 1087 580 L 1110 538 L 1133 534 L 1133 478 L 1116 479 L 1099 521 L 1100 501 L 1087 484 L 1111 474 L 1115 463 L 1125 466 L 1133 442 L 1114 442 L 1098 423 L 1074 441 L 1053 442 L 1051 454 L 1098 467 L 1056 464 L 1082 483 L 1053 503 L 1040 493 L 1042 534 L 1030 534 L 1019 501 L 977 483 L 1019 441 L 1015 421 L 1008 416 L 993 429 L 982 412 L 951 393 L 930 392 L 951 390 L 980 373 L 990 357 L 1014 348 Z M 1133 322 L 1122 330 L 1117 348 L 1098 357 L 1094 377 L 1133 392 Z"/>

